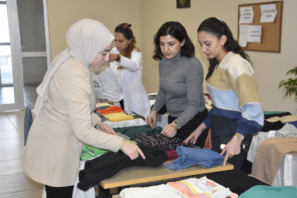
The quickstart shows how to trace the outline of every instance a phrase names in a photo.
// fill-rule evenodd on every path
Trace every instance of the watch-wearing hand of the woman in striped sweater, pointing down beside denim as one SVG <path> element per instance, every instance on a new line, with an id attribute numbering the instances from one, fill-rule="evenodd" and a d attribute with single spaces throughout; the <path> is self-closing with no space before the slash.
<path id="1" fill-rule="evenodd" d="M 226 144 L 224 149 L 221 152 L 221 155 L 225 155 L 223 165 L 226 165 L 228 158 L 232 158 L 235 155 L 240 154 L 240 144 L 242 140 L 238 140 L 238 138 L 234 135 L 233 138 Z"/>

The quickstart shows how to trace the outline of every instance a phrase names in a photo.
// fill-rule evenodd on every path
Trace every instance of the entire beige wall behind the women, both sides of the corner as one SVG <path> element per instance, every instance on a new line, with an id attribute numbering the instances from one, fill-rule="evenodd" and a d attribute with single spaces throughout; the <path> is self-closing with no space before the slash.
<path id="1" fill-rule="evenodd" d="M 206 76 L 208 61 L 197 39 L 199 24 L 208 17 L 222 17 L 237 38 L 238 4 L 267 2 L 267 0 L 192 0 L 191 8 L 176 8 L 176 0 L 48 0 L 48 18 L 52 59 L 66 47 L 65 33 L 72 23 L 91 18 L 104 23 L 111 32 L 122 22 L 132 24 L 137 46 L 143 53 L 143 84 L 148 93 L 159 86 L 158 61 L 152 59 L 153 35 L 167 21 L 179 21 L 195 45 Z M 264 111 L 289 111 L 296 114 L 294 98 L 282 99 L 278 89 L 286 72 L 297 65 L 296 0 L 284 0 L 282 15 L 281 53 L 246 51 L 254 63 L 258 91 Z M 117 14 L 119 13 L 119 14 Z M 141 35 L 141 36 L 140 36 Z M 271 41 L 274 42 L 274 41 Z M 149 47 L 151 44 L 151 47 Z M 203 84 L 204 92 L 206 82 Z"/>

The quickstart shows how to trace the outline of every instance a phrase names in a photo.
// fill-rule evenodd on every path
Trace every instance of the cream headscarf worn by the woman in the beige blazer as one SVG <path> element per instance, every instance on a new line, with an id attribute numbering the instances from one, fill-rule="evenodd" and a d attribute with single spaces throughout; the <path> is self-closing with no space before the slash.
<path id="1" fill-rule="evenodd" d="M 69 57 L 79 58 L 86 67 L 90 67 L 98 52 L 107 47 L 114 39 L 108 28 L 92 19 L 82 19 L 74 23 L 66 33 L 68 48 L 58 54 L 50 64 L 42 83 L 37 87 L 38 94 L 34 113 L 36 118 L 43 108 L 43 102 L 48 95 L 48 85 L 51 77 L 59 66 Z"/>

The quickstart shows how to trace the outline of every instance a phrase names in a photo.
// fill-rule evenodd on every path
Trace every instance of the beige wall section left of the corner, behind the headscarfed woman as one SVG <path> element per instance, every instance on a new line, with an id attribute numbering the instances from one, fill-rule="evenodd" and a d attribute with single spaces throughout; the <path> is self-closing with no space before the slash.
<path id="1" fill-rule="evenodd" d="M 100 21 L 112 33 L 119 23 L 130 23 L 136 45 L 141 47 L 139 0 L 47 0 L 47 6 L 52 60 L 67 47 L 68 28 L 83 18 Z"/>

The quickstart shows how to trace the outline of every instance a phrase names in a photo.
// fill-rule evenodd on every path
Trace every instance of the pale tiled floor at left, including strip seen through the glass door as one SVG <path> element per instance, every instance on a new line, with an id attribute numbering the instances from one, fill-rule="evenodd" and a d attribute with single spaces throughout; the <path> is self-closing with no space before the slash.
<path id="1" fill-rule="evenodd" d="M 24 87 L 25 106 L 34 104 L 36 86 Z M 1 95 L 1 98 L 9 97 Z M 27 104 L 27 105 L 26 105 Z M 0 198 L 40 198 L 43 184 L 23 173 L 25 110 L 0 111 Z M 98 196 L 98 185 L 95 186 Z"/>

